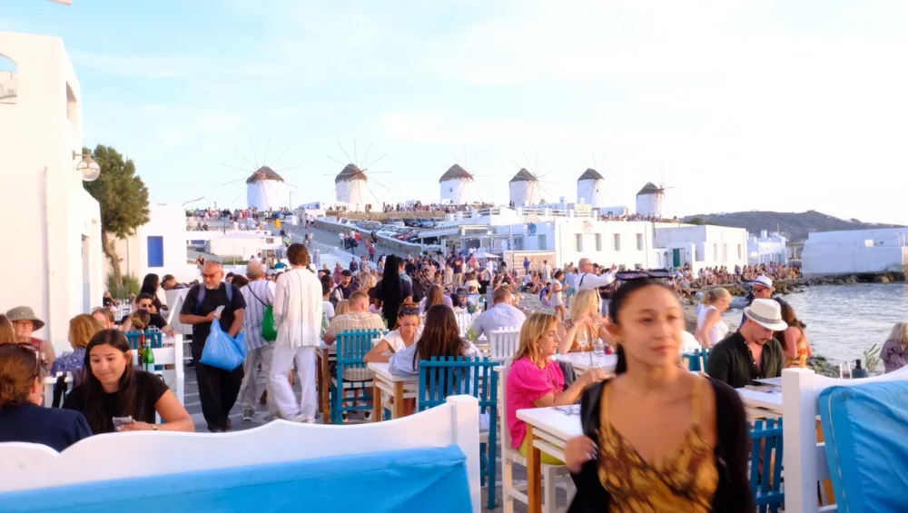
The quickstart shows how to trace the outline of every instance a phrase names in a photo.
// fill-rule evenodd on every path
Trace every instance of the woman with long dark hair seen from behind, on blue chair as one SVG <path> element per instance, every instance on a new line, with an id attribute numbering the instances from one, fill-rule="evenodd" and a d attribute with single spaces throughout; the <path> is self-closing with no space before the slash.
<path id="1" fill-rule="evenodd" d="M 394 353 L 390 358 L 390 371 L 402 376 L 419 373 L 419 360 L 432 357 L 478 357 L 482 352 L 469 340 L 460 338 L 454 311 L 443 304 L 437 304 L 426 314 L 426 325 L 422 335 L 409 348 Z"/>

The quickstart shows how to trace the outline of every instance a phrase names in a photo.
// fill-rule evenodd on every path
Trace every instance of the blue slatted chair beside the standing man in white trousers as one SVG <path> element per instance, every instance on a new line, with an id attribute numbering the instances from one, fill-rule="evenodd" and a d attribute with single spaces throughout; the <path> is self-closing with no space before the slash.
<path id="1" fill-rule="evenodd" d="M 331 423 L 342 424 L 348 411 L 372 410 L 372 371 L 363 359 L 380 330 L 344 331 L 337 339 L 337 369 L 331 377 Z M 344 392 L 351 391 L 351 397 Z"/>

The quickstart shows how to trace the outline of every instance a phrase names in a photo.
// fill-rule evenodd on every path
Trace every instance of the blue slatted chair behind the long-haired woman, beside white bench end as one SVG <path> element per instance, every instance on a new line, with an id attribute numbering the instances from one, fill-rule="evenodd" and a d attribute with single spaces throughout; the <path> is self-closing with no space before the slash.
<path id="1" fill-rule="evenodd" d="M 498 456 L 498 372 L 488 358 L 444 357 L 419 361 L 418 410 L 444 404 L 448 396 L 470 395 L 479 400 L 479 416 L 489 419 L 489 431 L 479 429 L 479 475 L 489 486 L 489 509 L 495 508 L 495 469 Z M 488 454 L 487 454 L 488 451 Z"/>

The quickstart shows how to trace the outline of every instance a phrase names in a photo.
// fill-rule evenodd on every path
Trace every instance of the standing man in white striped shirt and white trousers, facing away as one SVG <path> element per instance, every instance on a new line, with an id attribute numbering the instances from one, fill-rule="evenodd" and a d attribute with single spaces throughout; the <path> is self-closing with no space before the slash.
<path id="1" fill-rule="evenodd" d="M 315 350 L 321 342 L 321 281 L 311 270 L 306 246 L 293 243 L 287 249 L 290 271 L 278 278 L 274 291 L 274 342 L 271 371 L 268 373 L 268 400 L 282 419 L 314 422 L 318 411 L 315 393 Z M 290 370 L 296 362 L 301 400 L 290 384 Z"/>

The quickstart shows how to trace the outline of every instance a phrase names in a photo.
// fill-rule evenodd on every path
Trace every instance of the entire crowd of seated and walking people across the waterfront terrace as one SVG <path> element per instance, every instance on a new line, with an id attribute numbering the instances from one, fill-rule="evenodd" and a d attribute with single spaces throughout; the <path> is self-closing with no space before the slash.
<path id="1" fill-rule="evenodd" d="M 518 409 L 580 403 L 584 435 L 568 442 L 563 462 L 542 457 L 575 473 L 579 510 L 642 504 L 654 511 L 753 511 L 748 424 L 734 389 L 803 367 L 813 354 L 804 322 L 774 297 L 773 277 L 785 275 L 785 266 L 729 274 L 752 289 L 737 326 L 722 318 L 731 304 L 725 289 L 701 291 L 690 334 L 675 273 L 621 271 L 587 258 L 561 268 L 526 259 L 521 270 L 477 252 L 361 255 L 317 269 L 306 245 L 293 243 L 286 263 L 253 256 L 242 274 L 225 273 L 217 261 L 200 263 L 199 282 L 148 275 L 125 318 L 114 318 L 114 301 L 75 316 L 73 350 L 59 357 L 35 338 L 44 322 L 31 308 L 0 315 L 0 441 L 62 450 L 98 433 L 196 429 L 163 380 L 133 365 L 126 337 L 130 330 L 170 332 L 162 291 L 185 288 L 174 314 L 192 327 L 193 368 L 211 432 L 233 429 L 229 414 L 237 401 L 243 420 L 320 420 L 316 350 L 351 330 L 380 331 L 367 362 L 387 361 L 392 373 L 415 376 L 420 361 L 480 357 L 481 338 L 516 327 L 518 350 L 502 383 L 503 429 L 527 455 Z M 538 295 L 539 306 L 521 294 Z M 455 311 L 474 314 L 469 336 L 461 335 Z M 215 322 L 229 336 L 244 335 L 248 352 L 236 369 L 202 362 Z M 273 337 L 264 330 L 271 322 Z M 908 362 L 908 323 L 889 338 L 881 357 L 893 371 Z M 598 345 L 617 354 L 613 379 L 596 367 L 577 376 L 569 362 L 551 358 Z M 711 350 L 703 373 L 684 368 L 682 354 L 694 349 Z M 42 408 L 44 376 L 57 372 L 74 376 L 73 390 L 62 408 Z M 414 406 L 409 401 L 403 410 Z M 663 462 L 659 469 L 646 463 L 655 460 Z M 679 485 L 665 486 L 666 478 Z"/>

